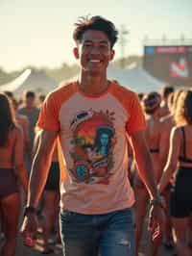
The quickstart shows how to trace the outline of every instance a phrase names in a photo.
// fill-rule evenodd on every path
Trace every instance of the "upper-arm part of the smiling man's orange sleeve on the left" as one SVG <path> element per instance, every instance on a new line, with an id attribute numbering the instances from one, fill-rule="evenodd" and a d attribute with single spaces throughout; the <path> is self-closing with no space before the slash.
<path id="1" fill-rule="evenodd" d="M 42 104 L 36 125 L 43 130 L 60 130 L 59 107 L 54 94 L 49 94 Z"/>

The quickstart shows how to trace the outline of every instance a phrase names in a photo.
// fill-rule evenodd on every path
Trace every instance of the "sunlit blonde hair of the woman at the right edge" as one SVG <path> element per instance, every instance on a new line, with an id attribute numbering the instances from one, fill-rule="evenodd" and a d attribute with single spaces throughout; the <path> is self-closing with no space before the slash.
<path id="1" fill-rule="evenodd" d="M 184 90 L 180 93 L 175 111 L 176 124 L 192 124 L 192 90 Z"/>

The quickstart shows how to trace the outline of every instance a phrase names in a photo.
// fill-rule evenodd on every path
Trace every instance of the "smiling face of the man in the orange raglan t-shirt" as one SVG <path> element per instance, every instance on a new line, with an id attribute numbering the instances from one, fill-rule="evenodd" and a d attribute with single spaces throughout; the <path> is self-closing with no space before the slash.
<path id="1" fill-rule="evenodd" d="M 88 30 L 84 32 L 79 48 L 74 49 L 74 54 L 80 59 L 85 72 L 91 76 L 100 76 L 106 73 L 114 51 L 110 49 L 110 41 L 104 32 Z"/>

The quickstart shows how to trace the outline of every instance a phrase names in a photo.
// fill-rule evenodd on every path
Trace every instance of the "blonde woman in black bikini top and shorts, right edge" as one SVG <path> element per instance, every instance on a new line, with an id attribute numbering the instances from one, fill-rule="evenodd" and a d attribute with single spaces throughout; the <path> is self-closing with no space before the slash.
<path id="1" fill-rule="evenodd" d="M 178 256 L 191 255 L 186 233 L 192 214 L 192 91 L 181 92 L 175 113 L 176 126 L 170 136 L 170 150 L 158 190 L 162 192 L 177 169 L 170 199 L 170 213 L 177 237 Z M 177 168 L 176 168 L 177 167 Z"/>

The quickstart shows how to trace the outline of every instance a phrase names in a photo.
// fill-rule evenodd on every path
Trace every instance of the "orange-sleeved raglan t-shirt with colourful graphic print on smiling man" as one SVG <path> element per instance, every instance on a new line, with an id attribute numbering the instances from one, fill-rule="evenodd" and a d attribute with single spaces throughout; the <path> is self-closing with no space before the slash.
<path id="1" fill-rule="evenodd" d="M 90 96 L 69 83 L 47 96 L 37 124 L 59 132 L 61 209 L 92 215 L 132 207 L 127 136 L 146 128 L 132 90 L 109 82 Z"/>

